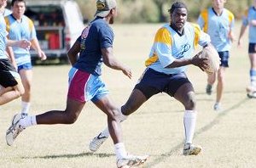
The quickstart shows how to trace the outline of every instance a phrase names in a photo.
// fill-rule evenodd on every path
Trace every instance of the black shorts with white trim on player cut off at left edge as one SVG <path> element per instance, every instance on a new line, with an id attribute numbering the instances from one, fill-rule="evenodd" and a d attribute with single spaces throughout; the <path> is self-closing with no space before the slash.
<path id="1" fill-rule="evenodd" d="M 3 87 L 15 87 L 18 82 L 15 78 L 20 78 L 15 67 L 9 59 L 0 59 L 0 85 Z"/>

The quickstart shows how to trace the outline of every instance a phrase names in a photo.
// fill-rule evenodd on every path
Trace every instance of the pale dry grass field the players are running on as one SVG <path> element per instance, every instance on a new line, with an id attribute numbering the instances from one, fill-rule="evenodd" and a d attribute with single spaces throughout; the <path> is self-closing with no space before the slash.
<path id="1" fill-rule="evenodd" d="M 114 25 L 114 55 L 133 70 L 129 80 L 120 71 L 103 67 L 103 80 L 113 100 L 121 105 L 129 97 L 144 70 L 160 25 Z M 240 25 L 236 25 L 236 35 Z M 207 76 L 189 67 L 197 98 L 197 126 L 194 143 L 203 147 L 198 156 L 183 156 L 183 106 L 159 94 L 131 115 L 122 126 L 126 149 L 131 154 L 149 154 L 142 167 L 256 167 L 256 99 L 247 98 L 249 62 L 247 37 L 243 48 L 233 46 L 230 68 L 226 71 L 223 110 L 212 110 L 215 92 L 205 93 Z M 32 87 L 32 115 L 49 109 L 64 109 L 69 65 L 35 66 Z M 215 88 L 215 87 L 214 87 Z M 5 132 L 20 99 L 0 107 L 0 167 L 115 167 L 111 139 L 96 154 L 88 149 L 90 139 L 106 126 L 106 116 L 88 103 L 79 120 L 70 126 L 31 126 L 17 137 L 13 147 L 5 143 Z"/>

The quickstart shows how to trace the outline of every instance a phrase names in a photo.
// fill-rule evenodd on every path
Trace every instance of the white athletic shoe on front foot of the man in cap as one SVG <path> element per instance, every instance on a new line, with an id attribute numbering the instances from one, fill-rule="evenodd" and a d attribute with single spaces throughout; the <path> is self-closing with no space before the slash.
<path id="1" fill-rule="evenodd" d="M 128 154 L 125 158 L 117 160 L 116 165 L 118 168 L 129 168 L 137 165 L 143 165 L 148 160 L 148 155 L 133 156 Z"/>

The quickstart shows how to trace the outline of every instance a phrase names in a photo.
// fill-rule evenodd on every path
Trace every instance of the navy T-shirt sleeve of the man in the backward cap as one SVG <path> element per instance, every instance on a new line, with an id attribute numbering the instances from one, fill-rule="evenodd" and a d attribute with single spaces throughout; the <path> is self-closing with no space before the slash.
<path id="1" fill-rule="evenodd" d="M 103 26 L 99 30 L 99 40 L 101 48 L 113 47 L 113 31 L 108 26 Z"/>

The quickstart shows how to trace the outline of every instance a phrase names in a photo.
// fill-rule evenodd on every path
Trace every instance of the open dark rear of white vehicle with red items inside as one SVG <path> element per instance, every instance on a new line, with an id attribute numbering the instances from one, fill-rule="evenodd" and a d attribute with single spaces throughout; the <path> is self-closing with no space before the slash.
<path id="1" fill-rule="evenodd" d="M 27 6 L 25 14 L 33 20 L 42 49 L 56 50 L 65 47 L 65 21 L 60 6 Z"/>

